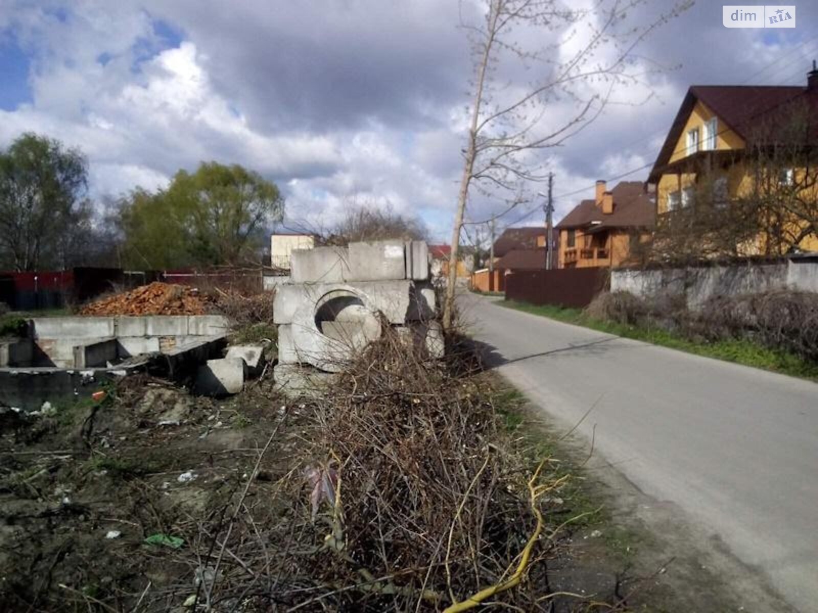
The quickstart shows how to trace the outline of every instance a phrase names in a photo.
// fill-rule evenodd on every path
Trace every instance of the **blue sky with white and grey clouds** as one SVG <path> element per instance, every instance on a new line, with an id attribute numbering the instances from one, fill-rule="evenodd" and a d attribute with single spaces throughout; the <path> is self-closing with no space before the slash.
<path id="1" fill-rule="evenodd" d="M 595 4 L 571 0 L 588 11 L 582 19 L 519 32 L 526 48 L 547 45 L 546 59 L 501 60 L 497 100 L 587 43 Z M 672 4 L 635 7 L 621 31 Z M 555 219 L 590 197 L 596 179 L 653 162 L 690 85 L 806 84 L 818 2 L 796 7 L 794 29 L 726 29 L 721 3 L 699 0 L 634 49 L 637 81 L 588 80 L 550 96 L 537 110 L 546 131 L 610 92 L 593 122 L 529 160 L 554 173 Z M 483 11 L 480 0 L 0 0 L 0 148 L 23 132 L 79 147 L 100 200 L 160 189 L 201 161 L 240 163 L 280 187 L 285 227 L 328 230 L 350 206 L 388 207 L 447 239 L 474 74 L 463 25 Z M 613 52 L 603 44 L 594 61 Z M 497 225 L 542 223 L 541 204 L 533 196 Z M 467 220 L 505 210 L 475 191 Z"/>

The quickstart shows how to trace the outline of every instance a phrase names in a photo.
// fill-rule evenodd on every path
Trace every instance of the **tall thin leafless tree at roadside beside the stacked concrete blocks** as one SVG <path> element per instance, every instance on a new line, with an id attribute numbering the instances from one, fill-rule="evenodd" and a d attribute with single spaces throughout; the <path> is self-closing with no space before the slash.
<path id="1" fill-rule="evenodd" d="M 640 19 L 646 0 L 600 0 L 591 11 L 570 9 L 558 0 L 486 0 L 483 23 L 463 25 L 473 46 L 474 83 L 452 226 L 445 327 L 452 324 L 456 263 L 471 191 L 500 195 L 507 208 L 519 204 L 527 181 L 547 177 L 537 153 L 563 145 L 596 119 L 614 86 L 640 82 L 645 69 L 631 61 L 634 49 L 692 3 L 674 2 L 640 26 L 633 25 L 631 17 Z M 578 33 L 582 24 L 587 34 Z M 544 38 L 549 42 L 542 44 Z M 533 68 L 533 81 L 498 78 L 501 71 L 519 74 Z M 604 83 L 604 93 L 594 92 L 592 81 Z M 574 108 L 561 120 L 549 114 L 558 99 L 572 101 Z"/>

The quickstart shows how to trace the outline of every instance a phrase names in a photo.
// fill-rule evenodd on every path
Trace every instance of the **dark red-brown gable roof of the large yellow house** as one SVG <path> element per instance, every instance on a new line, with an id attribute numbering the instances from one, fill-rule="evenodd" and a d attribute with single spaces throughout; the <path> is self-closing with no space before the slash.
<path id="1" fill-rule="evenodd" d="M 688 117 L 697 101 L 707 106 L 727 128 L 745 141 L 751 131 L 765 119 L 788 114 L 787 107 L 797 101 L 807 103 L 810 110 L 818 109 L 818 91 L 800 86 L 760 85 L 694 85 L 687 90 L 662 149 L 650 171 L 648 182 L 658 181 L 660 169 L 671 159 Z M 721 128 L 719 128 L 721 131 Z"/>

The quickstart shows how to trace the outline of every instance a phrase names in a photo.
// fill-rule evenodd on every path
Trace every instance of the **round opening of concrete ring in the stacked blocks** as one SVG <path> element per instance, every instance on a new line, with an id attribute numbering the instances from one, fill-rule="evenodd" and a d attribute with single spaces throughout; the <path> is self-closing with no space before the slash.
<path id="1" fill-rule="evenodd" d="M 316 304 L 315 325 L 332 341 L 362 349 L 380 337 L 380 320 L 362 298 L 345 289 L 327 293 Z"/>

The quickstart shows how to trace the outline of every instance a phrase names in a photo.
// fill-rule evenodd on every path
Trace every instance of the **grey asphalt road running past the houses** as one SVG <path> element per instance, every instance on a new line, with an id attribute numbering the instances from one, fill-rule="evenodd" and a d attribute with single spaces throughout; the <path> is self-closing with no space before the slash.
<path id="1" fill-rule="evenodd" d="M 818 384 L 492 302 L 460 305 L 501 374 L 565 427 L 596 403 L 578 431 L 607 461 L 818 611 Z"/>

